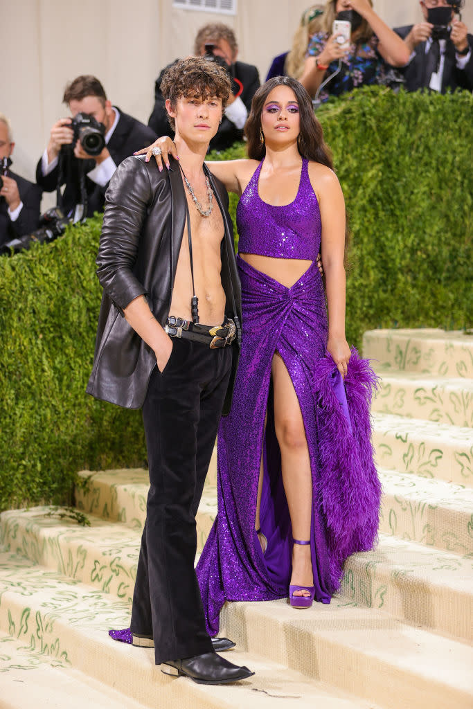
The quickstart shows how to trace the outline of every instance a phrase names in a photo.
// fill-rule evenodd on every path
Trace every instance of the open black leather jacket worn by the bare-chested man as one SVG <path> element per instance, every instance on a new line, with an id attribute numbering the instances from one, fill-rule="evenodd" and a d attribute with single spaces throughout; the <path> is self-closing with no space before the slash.
<path id="1" fill-rule="evenodd" d="M 204 165 L 223 215 L 221 280 L 226 315 L 241 323 L 241 289 L 233 249 L 228 194 Z M 140 408 L 156 365 L 155 353 L 123 317 L 134 298 L 146 295 L 161 325 L 169 315 L 177 259 L 186 220 L 186 195 L 179 164 L 159 172 L 144 156 L 123 160 L 106 192 L 97 275 L 104 288 L 97 329 L 94 367 L 87 393 L 125 408 Z M 233 294 L 232 294 L 233 291 Z M 235 303 L 235 308 L 233 306 Z M 238 328 L 240 330 L 240 328 Z M 240 333 L 233 343 L 233 364 L 223 414 L 230 411 Z"/>

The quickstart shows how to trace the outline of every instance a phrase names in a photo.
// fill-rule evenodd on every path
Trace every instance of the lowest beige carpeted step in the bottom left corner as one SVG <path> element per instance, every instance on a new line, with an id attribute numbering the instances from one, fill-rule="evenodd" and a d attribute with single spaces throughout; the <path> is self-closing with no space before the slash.
<path id="1" fill-rule="evenodd" d="M 66 662 L 0 632 L 1 709 L 144 709 Z"/>

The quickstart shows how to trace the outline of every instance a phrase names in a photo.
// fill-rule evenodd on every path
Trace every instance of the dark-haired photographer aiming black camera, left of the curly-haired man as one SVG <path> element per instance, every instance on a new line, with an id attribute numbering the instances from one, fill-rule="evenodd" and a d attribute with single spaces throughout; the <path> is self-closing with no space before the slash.
<path id="1" fill-rule="evenodd" d="M 65 184 L 62 208 L 77 221 L 103 211 L 108 182 L 117 165 L 150 145 L 156 136 L 148 126 L 112 106 L 96 77 L 74 79 L 62 100 L 72 118 L 60 118 L 52 126 L 36 182 L 47 192 Z"/>

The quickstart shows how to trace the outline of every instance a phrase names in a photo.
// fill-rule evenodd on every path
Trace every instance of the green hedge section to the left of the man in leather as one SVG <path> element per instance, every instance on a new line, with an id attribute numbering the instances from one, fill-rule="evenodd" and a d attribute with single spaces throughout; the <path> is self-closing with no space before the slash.
<path id="1" fill-rule="evenodd" d="M 0 508 L 70 503 L 75 474 L 143 464 L 139 411 L 85 393 L 101 219 L 0 259 Z"/>

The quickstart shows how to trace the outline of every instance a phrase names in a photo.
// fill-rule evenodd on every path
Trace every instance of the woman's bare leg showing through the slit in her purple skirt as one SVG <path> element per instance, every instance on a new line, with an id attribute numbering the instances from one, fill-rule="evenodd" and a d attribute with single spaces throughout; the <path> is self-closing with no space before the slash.
<path id="1" fill-rule="evenodd" d="M 311 461 L 299 400 L 282 357 L 272 360 L 274 426 L 281 450 L 282 481 L 291 515 L 292 536 L 310 540 L 312 515 Z M 294 545 L 291 584 L 313 586 L 311 545 Z M 310 596 L 296 591 L 296 596 Z"/>

